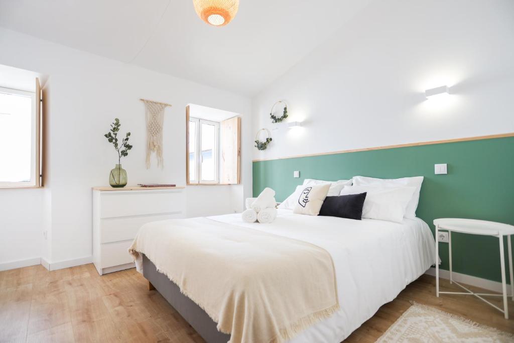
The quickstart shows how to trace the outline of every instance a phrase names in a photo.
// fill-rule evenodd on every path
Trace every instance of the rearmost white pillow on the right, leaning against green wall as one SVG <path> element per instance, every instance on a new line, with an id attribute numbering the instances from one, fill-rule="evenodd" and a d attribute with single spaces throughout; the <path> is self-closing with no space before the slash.
<path id="1" fill-rule="evenodd" d="M 375 178 L 366 176 L 354 176 L 353 184 L 355 186 L 376 186 L 376 187 L 415 187 L 412 198 L 407 205 L 405 218 L 416 218 L 416 209 L 419 203 L 419 191 L 423 183 L 423 176 L 402 177 L 402 178 Z"/>

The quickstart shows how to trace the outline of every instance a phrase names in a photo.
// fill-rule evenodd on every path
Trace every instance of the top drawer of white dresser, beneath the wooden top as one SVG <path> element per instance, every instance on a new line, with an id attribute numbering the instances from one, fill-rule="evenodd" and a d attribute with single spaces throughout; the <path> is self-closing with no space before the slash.
<path id="1" fill-rule="evenodd" d="M 183 212 L 182 190 L 103 192 L 100 218 Z"/>

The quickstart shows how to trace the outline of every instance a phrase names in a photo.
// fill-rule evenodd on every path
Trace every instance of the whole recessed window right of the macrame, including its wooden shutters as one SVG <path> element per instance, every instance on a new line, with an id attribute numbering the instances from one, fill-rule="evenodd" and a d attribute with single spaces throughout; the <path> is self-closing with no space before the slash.
<path id="1" fill-rule="evenodd" d="M 189 116 L 190 107 L 191 113 L 200 118 Z M 186 183 L 238 184 L 240 117 L 210 107 L 188 105 L 186 122 Z"/>

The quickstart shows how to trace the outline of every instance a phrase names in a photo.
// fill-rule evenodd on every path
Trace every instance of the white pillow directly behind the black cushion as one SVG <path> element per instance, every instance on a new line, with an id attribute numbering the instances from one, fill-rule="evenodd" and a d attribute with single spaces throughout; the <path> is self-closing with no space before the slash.
<path id="1" fill-rule="evenodd" d="M 415 190 L 416 187 L 345 186 L 340 195 L 366 192 L 362 218 L 402 223 L 405 209 Z"/>

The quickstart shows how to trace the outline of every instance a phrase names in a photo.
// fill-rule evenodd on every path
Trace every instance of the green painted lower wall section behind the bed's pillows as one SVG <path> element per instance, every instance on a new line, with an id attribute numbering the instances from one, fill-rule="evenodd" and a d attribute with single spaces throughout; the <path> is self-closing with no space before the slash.
<path id="1" fill-rule="evenodd" d="M 434 174 L 438 163 L 448 164 L 447 175 Z M 295 170 L 300 178 L 293 178 Z M 416 214 L 432 232 L 436 218 L 514 224 L 514 137 L 255 161 L 253 194 L 270 187 L 280 202 L 304 178 L 338 180 L 355 175 L 425 176 Z M 441 267 L 448 269 L 448 244 L 439 243 L 439 248 Z M 501 281 L 497 238 L 454 233 L 452 248 L 454 272 Z"/>

